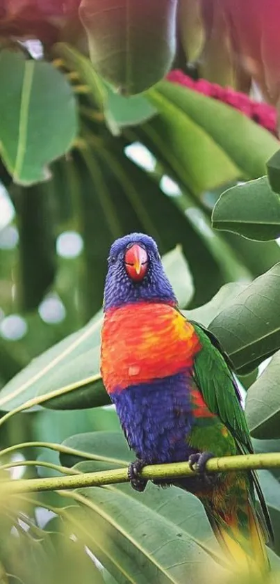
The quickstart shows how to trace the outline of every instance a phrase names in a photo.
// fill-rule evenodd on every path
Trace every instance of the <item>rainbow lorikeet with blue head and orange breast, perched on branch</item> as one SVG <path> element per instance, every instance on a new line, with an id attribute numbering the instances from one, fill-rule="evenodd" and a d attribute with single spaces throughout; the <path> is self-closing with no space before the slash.
<path id="1" fill-rule="evenodd" d="M 205 468 L 210 457 L 253 452 L 229 357 L 210 331 L 180 313 L 151 237 L 133 233 L 110 248 L 104 312 L 101 374 L 137 456 L 131 485 L 145 489 L 145 464 L 196 464 L 193 478 L 170 482 L 199 497 L 231 558 L 267 571 L 254 489 L 273 535 L 256 473 L 209 475 Z"/>

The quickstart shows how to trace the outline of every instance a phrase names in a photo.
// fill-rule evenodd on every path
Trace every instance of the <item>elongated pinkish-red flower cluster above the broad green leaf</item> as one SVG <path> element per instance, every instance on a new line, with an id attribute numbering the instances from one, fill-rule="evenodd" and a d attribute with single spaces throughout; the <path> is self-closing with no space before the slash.
<path id="1" fill-rule="evenodd" d="M 221 87 L 215 83 L 210 83 L 206 79 L 194 81 L 180 70 L 173 70 L 167 75 L 169 81 L 186 86 L 190 89 L 213 97 L 215 100 L 224 102 L 263 126 L 272 134 L 277 135 L 277 111 L 273 106 L 251 100 L 245 93 L 234 91 L 230 87 Z"/>

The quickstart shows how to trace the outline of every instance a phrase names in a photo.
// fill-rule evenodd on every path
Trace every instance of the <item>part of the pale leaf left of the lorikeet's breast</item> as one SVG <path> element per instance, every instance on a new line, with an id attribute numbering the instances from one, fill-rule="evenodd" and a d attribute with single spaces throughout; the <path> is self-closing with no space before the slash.
<path id="1" fill-rule="evenodd" d="M 0 409 L 10 410 L 24 404 L 37 395 L 45 395 L 66 388 L 58 399 L 63 409 L 72 402 L 73 388 L 81 388 L 81 402 L 75 399 L 75 406 L 92 407 L 108 403 L 99 377 L 99 336 L 101 314 L 97 314 L 83 329 L 60 341 L 57 345 L 22 370 L 0 392 Z M 85 381 L 88 380 L 88 381 Z M 83 384 L 81 383 L 81 386 Z M 75 392 L 75 389 L 74 389 Z M 47 395 L 46 398 L 48 399 Z M 66 401 L 65 401 L 66 400 Z M 56 402 L 53 403 L 53 407 Z M 66 407 L 65 407 L 66 406 Z"/>

